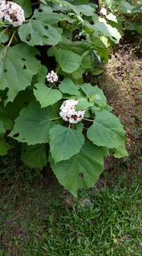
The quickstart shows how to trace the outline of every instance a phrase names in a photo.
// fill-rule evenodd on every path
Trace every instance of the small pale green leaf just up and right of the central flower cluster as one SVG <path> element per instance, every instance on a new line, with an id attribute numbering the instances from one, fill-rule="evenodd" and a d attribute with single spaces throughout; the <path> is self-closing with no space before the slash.
<path id="1" fill-rule="evenodd" d="M 93 86 L 90 85 L 90 83 L 85 83 L 81 85 L 81 90 L 83 90 L 85 95 L 89 98 L 90 102 L 95 102 L 100 107 L 106 106 L 107 99 L 97 85 Z"/>

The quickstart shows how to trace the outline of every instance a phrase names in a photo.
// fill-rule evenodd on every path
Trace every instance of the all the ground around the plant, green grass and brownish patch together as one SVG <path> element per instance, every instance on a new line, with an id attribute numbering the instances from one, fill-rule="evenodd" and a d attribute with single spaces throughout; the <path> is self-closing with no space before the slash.
<path id="1" fill-rule="evenodd" d="M 129 158 L 107 159 L 78 201 L 18 152 L 1 158 L 0 256 L 142 255 L 141 59 L 121 49 L 100 86 L 126 127 Z"/>

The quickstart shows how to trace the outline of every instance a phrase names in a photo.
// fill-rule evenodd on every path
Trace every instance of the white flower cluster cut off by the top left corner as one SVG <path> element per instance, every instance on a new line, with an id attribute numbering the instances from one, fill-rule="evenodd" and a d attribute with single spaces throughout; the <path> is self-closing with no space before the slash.
<path id="1" fill-rule="evenodd" d="M 10 21 L 13 26 L 21 26 L 25 21 L 23 9 L 11 1 L 0 0 L 0 21 Z"/>

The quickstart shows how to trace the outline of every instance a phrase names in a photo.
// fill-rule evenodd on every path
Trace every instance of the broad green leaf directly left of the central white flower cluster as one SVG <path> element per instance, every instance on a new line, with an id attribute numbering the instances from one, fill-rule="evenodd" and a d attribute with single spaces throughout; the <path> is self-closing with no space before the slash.
<path id="1" fill-rule="evenodd" d="M 49 142 L 49 129 L 54 124 L 51 119 L 56 117 L 53 107 L 41 108 L 40 103 L 32 102 L 21 110 L 9 136 L 28 145 Z"/>

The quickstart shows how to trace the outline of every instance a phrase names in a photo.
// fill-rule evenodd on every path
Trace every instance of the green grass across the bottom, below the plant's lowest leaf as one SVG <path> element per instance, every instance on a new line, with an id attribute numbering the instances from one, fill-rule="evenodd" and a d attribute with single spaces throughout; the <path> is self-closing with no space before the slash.
<path id="1" fill-rule="evenodd" d="M 18 201 L 1 203 L 0 249 L 16 256 L 141 256 L 141 188 L 141 175 L 132 181 L 124 174 L 112 188 L 81 192 L 72 208 L 61 188 L 29 188 Z M 93 205 L 83 208 L 84 198 Z"/>

